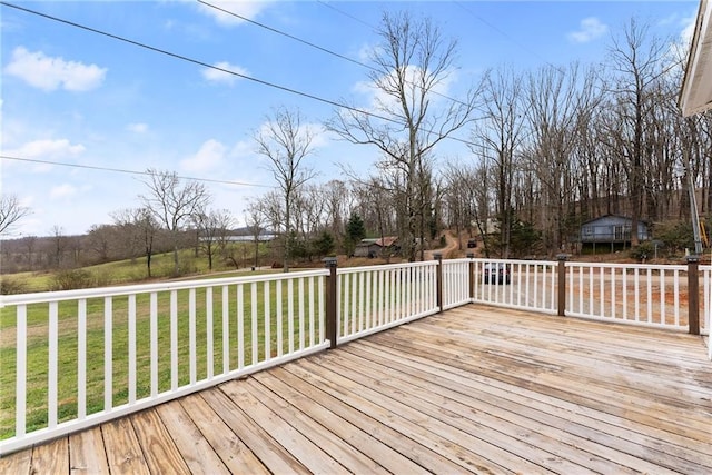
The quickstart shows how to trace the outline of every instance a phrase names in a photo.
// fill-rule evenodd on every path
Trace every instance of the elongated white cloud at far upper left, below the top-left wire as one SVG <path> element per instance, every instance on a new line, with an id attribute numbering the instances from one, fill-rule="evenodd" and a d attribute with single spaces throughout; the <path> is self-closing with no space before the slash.
<path id="1" fill-rule="evenodd" d="M 12 51 L 12 60 L 4 71 L 44 91 L 63 88 L 75 92 L 98 88 L 107 73 L 106 68 L 97 65 L 65 61 L 61 57 L 51 58 L 41 51 L 30 52 L 23 47 Z"/>

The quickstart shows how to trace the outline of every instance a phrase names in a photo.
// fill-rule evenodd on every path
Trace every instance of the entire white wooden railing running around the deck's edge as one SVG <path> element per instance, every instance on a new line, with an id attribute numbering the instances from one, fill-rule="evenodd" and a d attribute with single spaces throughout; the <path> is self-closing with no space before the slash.
<path id="1" fill-rule="evenodd" d="M 467 258 L 1 296 L 0 456 L 469 303 L 686 329 L 688 269 Z"/>

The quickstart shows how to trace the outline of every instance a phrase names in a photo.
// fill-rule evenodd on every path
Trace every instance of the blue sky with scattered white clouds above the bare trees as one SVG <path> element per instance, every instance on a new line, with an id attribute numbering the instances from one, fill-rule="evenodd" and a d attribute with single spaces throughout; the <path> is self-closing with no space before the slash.
<path id="1" fill-rule="evenodd" d="M 445 91 L 463 95 L 483 71 L 526 71 L 552 63 L 603 61 L 611 36 L 636 16 L 661 37 L 690 31 L 696 0 L 679 1 L 211 1 L 339 55 L 365 61 L 383 11 L 432 17 L 459 42 L 459 69 Z M 13 3 L 10 1 L 10 3 Z M 367 70 L 197 1 L 17 1 L 52 17 L 110 32 L 200 62 L 335 101 L 368 107 Z M 216 73 L 66 23 L 0 7 L 3 156 L 142 171 L 158 168 L 207 182 L 212 207 L 243 220 L 250 197 L 275 185 L 253 133 L 276 107 L 298 108 L 316 132 L 309 164 L 318 181 L 342 167 L 367 174 L 377 158 L 322 130 L 332 106 Z M 461 131 L 462 138 L 468 131 Z M 471 160 L 464 145 L 438 154 Z M 3 194 L 32 214 L 13 231 L 67 235 L 111 222 L 139 206 L 140 175 L 2 159 Z"/>

